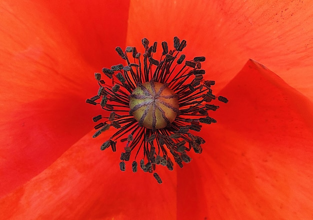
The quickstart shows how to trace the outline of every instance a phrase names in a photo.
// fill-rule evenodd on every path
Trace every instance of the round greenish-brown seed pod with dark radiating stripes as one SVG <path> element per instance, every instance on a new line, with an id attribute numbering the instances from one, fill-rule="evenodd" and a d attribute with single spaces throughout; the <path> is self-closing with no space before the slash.
<path id="1" fill-rule="evenodd" d="M 128 98 L 129 114 L 139 122 L 139 126 L 149 129 L 166 127 L 179 113 L 178 97 L 167 84 L 153 80 L 137 83 Z"/>

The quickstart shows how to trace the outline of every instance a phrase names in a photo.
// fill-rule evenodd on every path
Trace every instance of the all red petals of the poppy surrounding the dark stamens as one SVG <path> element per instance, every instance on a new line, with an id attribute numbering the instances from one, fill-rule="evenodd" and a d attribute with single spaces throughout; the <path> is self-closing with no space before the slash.
<path id="1" fill-rule="evenodd" d="M 313 217 L 309 2 L 1 1 L 0 11 L 3 219 Z M 206 57 L 229 102 L 201 130 L 202 153 L 160 169 L 157 184 L 99 150 L 111 133 L 91 138 L 99 109 L 84 100 L 93 72 L 120 63 L 115 46 L 175 35 L 187 56 Z"/>

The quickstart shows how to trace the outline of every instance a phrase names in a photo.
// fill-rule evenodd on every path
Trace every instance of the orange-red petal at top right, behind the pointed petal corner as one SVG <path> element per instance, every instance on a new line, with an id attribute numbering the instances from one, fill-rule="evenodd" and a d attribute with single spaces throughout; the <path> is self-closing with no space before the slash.
<path id="1" fill-rule="evenodd" d="M 309 1 L 132 0 L 127 43 L 186 39 L 183 52 L 206 56 L 203 67 L 218 79 L 218 90 L 253 58 L 313 100 L 312 14 Z"/>

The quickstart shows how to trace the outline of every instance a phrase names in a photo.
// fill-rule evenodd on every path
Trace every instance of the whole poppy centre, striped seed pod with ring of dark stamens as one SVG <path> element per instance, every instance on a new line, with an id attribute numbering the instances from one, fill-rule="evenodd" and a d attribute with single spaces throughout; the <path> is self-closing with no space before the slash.
<path id="1" fill-rule="evenodd" d="M 92 118 L 97 125 L 93 137 L 105 130 L 113 129 L 111 137 L 103 142 L 101 150 L 123 146 L 119 168 L 125 171 L 125 161 L 132 160 L 131 170 L 153 173 L 158 183 L 162 180 L 155 172 L 156 165 L 173 169 L 173 161 L 182 167 L 190 162 L 190 150 L 201 153 L 205 141 L 196 135 L 201 130 L 201 123 L 215 123 L 208 115 L 219 106 L 210 104 L 216 99 L 211 86 L 214 81 L 205 80 L 205 70 L 201 69 L 204 56 L 185 60 L 181 54 L 186 46 L 185 40 L 174 37 L 173 49 L 168 50 L 167 42 L 161 43 L 162 53 L 159 59 L 153 55 L 157 42 L 149 45 L 142 39 L 144 53 L 136 47 L 120 47 L 115 50 L 124 59 L 125 64 L 103 68 L 102 73 L 95 73 L 99 89 L 97 95 L 86 100 L 99 105 L 103 115 Z M 217 100 L 227 103 L 227 98 L 218 96 Z M 120 143 L 124 142 L 124 143 Z"/>

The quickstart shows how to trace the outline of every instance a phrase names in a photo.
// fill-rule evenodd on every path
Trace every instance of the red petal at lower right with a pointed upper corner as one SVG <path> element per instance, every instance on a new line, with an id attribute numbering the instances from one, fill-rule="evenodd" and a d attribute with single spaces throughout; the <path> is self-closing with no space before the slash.
<path id="1" fill-rule="evenodd" d="M 253 60 L 220 93 L 203 153 L 177 170 L 177 218 L 311 219 L 312 103 Z"/>

